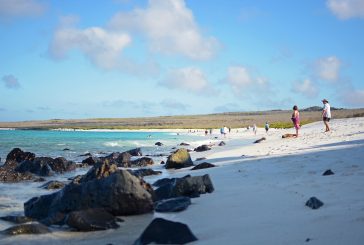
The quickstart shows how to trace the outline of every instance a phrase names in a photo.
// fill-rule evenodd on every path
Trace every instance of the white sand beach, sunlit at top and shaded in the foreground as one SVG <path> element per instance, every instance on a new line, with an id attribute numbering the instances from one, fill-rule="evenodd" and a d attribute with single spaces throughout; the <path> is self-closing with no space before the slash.
<path id="1" fill-rule="evenodd" d="M 4 242 L 34 244 L 132 244 L 154 217 L 187 224 L 198 241 L 191 244 L 364 244 L 364 118 L 305 125 L 298 138 L 282 139 L 294 129 L 258 129 L 226 138 L 225 146 L 191 153 L 215 168 L 171 171 L 171 177 L 209 174 L 215 191 L 192 199 L 179 213 L 126 217 L 117 230 L 55 232 Z M 239 142 L 247 138 L 248 146 Z M 219 139 L 219 140 L 220 140 Z M 327 169 L 335 174 L 322 176 Z M 153 181 L 155 177 L 146 178 Z M 324 205 L 305 206 L 310 197 Z"/>

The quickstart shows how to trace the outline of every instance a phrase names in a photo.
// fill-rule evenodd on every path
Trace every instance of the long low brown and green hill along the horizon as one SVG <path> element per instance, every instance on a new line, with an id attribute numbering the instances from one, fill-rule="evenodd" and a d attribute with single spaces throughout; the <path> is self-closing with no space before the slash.
<path id="1" fill-rule="evenodd" d="M 303 110 L 301 123 L 306 124 L 322 120 L 322 107 L 313 106 Z M 333 118 L 363 117 L 364 108 L 336 109 Z M 301 110 L 302 111 L 302 110 Z M 254 112 L 226 112 L 205 115 L 179 115 L 140 118 L 90 118 L 90 119 L 53 119 L 43 121 L 0 122 L 0 128 L 17 129 L 207 129 L 227 126 L 246 128 L 256 124 L 264 127 L 269 122 L 271 127 L 293 127 L 292 110 L 272 110 Z"/>

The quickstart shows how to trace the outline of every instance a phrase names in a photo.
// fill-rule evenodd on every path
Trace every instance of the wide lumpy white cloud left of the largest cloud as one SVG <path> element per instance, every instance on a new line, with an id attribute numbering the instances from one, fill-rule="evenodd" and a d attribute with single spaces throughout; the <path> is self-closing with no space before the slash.
<path id="1" fill-rule="evenodd" d="M 131 37 L 100 27 L 77 29 L 74 22 L 74 18 L 62 19 L 49 45 L 51 56 L 62 59 L 71 50 L 79 50 L 101 68 L 116 68 L 121 52 L 131 43 Z"/>

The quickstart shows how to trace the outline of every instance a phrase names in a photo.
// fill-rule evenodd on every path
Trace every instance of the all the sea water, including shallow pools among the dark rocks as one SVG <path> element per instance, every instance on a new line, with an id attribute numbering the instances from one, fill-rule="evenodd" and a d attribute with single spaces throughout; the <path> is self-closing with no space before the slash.
<path id="1" fill-rule="evenodd" d="M 23 151 L 35 153 L 37 157 L 65 157 L 67 160 L 81 162 L 86 153 L 94 156 L 104 156 L 112 152 L 123 152 L 140 147 L 143 155 L 152 155 L 155 165 L 153 168 L 163 169 L 160 154 L 169 154 L 180 143 L 191 143 L 193 149 L 200 144 L 211 142 L 213 137 L 206 137 L 202 132 L 125 132 L 125 131 L 53 131 L 53 130 L 0 130 L 0 157 L 2 165 L 7 154 L 15 147 Z M 156 146 L 156 142 L 163 146 Z M 84 174 L 89 168 L 79 168 L 65 174 L 47 177 L 47 181 L 67 181 L 68 178 Z M 168 173 L 163 173 L 168 177 Z M 32 197 L 49 194 L 53 191 L 40 188 L 44 182 L 0 182 L 0 216 L 23 215 L 23 204 Z M 54 190 L 57 191 L 57 190 Z M 13 224 L 0 220 L 0 230 Z M 1 237 L 1 235 L 0 235 Z M 11 240 L 10 240 L 11 241 Z M 0 239 L 1 243 L 1 239 Z"/>

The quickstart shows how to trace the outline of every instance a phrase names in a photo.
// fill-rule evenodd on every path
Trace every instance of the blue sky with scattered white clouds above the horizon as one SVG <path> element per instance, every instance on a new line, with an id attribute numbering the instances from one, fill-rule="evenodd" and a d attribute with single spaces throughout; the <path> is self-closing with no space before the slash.
<path id="1" fill-rule="evenodd" d="M 0 0 L 0 121 L 364 107 L 364 0 Z"/>

